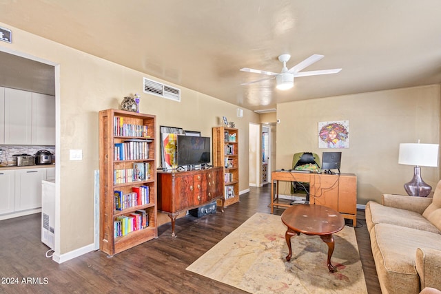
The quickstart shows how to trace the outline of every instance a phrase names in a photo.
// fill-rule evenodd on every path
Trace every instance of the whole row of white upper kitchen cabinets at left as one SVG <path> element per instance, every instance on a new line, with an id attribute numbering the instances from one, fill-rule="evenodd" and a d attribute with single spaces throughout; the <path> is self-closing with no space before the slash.
<path id="1" fill-rule="evenodd" d="M 54 96 L 0 87 L 0 103 L 0 143 L 55 145 Z"/>

